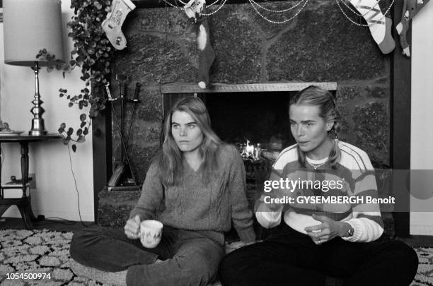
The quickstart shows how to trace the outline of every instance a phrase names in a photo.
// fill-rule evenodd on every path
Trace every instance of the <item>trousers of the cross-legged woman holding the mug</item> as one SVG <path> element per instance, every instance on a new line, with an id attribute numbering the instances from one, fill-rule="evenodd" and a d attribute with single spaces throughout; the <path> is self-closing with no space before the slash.
<path id="1" fill-rule="evenodd" d="M 69 251 L 85 266 L 128 270 L 127 285 L 207 285 L 224 256 L 224 235 L 164 226 L 158 246 L 146 249 L 123 230 L 95 227 L 75 232 Z M 163 261 L 155 264 L 157 258 Z"/>

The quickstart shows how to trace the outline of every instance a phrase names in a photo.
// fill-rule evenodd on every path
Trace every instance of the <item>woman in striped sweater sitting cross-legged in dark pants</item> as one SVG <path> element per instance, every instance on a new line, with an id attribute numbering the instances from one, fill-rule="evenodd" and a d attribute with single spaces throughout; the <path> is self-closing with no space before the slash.
<path id="1" fill-rule="evenodd" d="M 269 239 L 221 261 L 223 285 L 409 285 L 415 251 L 379 242 L 383 221 L 366 153 L 337 141 L 340 114 L 327 90 L 310 86 L 291 98 L 296 144 L 272 166 L 255 215 Z M 311 201 L 314 199 L 315 201 Z M 392 275 L 387 275 L 392 273 Z"/>

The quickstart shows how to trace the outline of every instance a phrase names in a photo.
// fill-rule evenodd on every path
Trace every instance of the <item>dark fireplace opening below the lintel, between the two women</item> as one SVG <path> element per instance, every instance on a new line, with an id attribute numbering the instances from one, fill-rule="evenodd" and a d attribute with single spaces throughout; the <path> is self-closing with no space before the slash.
<path id="1" fill-rule="evenodd" d="M 207 94 L 212 129 L 233 144 L 260 144 L 280 151 L 294 142 L 289 125 L 289 92 Z"/>

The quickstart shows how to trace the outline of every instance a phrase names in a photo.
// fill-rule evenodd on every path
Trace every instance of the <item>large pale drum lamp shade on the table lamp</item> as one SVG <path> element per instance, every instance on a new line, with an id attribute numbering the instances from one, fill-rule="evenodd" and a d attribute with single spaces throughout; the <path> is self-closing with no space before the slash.
<path id="1" fill-rule="evenodd" d="M 64 60 L 60 0 L 4 0 L 4 62 L 16 66 L 40 66 L 41 49 Z"/>

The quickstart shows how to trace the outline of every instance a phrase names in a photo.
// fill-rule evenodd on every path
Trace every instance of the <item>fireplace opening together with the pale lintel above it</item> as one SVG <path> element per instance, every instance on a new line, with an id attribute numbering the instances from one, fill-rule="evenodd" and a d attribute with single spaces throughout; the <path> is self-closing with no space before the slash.
<path id="1" fill-rule="evenodd" d="M 197 85 L 163 85 L 163 107 L 167 112 L 182 97 L 196 95 L 209 110 L 212 129 L 222 141 L 236 145 L 260 144 L 279 152 L 295 143 L 289 124 L 289 100 L 299 90 L 318 85 L 335 96 L 337 83 L 213 84 L 209 91 Z"/>

